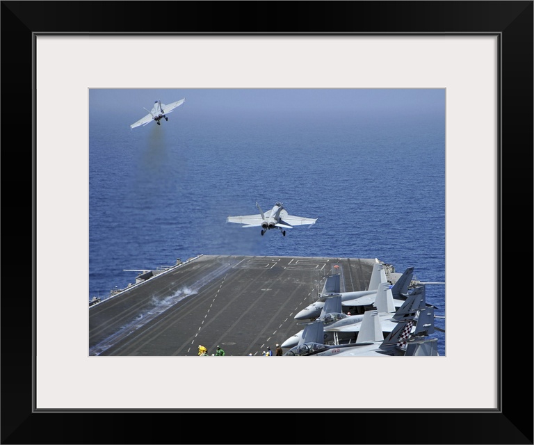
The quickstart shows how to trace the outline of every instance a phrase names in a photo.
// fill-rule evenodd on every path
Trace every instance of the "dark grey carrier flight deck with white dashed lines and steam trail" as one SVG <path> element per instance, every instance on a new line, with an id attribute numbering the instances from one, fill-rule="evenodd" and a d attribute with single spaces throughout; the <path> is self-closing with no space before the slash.
<path id="1" fill-rule="evenodd" d="M 302 329 L 293 317 L 314 302 L 325 277 L 341 292 L 366 289 L 376 259 L 200 255 L 91 302 L 89 355 L 261 355 Z M 394 283 L 401 274 L 385 268 Z M 285 352 L 285 351 L 284 351 Z"/>

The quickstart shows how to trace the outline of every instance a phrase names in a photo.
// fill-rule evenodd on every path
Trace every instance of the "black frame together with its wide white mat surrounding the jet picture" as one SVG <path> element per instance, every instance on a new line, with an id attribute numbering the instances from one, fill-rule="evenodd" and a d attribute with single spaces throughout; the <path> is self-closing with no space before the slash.
<path id="1" fill-rule="evenodd" d="M 10 408 L 3 443 L 164 443 L 172 414 L 213 420 L 202 442 L 214 443 L 239 443 L 236 432 L 245 441 L 266 419 L 291 442 L 340 442 L 330 430 L 289 426 L 286 414 L 326 425 L 391 424 L 380 434 L 355 430 L 367 443 L 533 443 L 532 360 L 512 347 L 531 338 L 531 316 L 521 314 L 532 314 L 532 299 L 508 296 L 521 293 L 508 291 L 504 277 L 512 274 L 503 274 L 512 264 L 503 241 L 524 245 L 519 229 L 503 232 L 505 165 L 513 165 L 506 175 L 514 172 L 515 194 L 532 202 L 531 181 L 521 184 L 533 165 L 532 1 L 3 1 L 1 8 L 3 232 L 17 234 L 4 243 L 3 270 L 17 264 L 22 275 L 16 285 L 7 274 L 3 280 L 1 397 Z M 375 360 L 341 359 L 332 369 L 320 359 L 310 369 L 306 359 L 273 367 L 236 357 L 206 369 L 180 360 L 188 357 L 90 357 L 90 99 L 97 90 L 122 91 L 109 106 L 109 119 L 122 122 L 118 103 L 133 106 L 124 93 L 142 89 L 176 90 L 173 100 L 200 89 L 444 92 L 444 357 L 387 369 Z M 512 163 L 517 152 L 521 161 Z M 11 172 L 13 165 L 25 168 Z M 417 177 L 417 165 L 398 174 Z M 27 214 L 21 191 L 32 195 Z M 31 268 L 17 231 L 26 220 Z M 519 406 L 517 394 L 527 403 Z M 127 427 L 132 415 L 150 428 Z M 95 428 L 102 420 L 113 423 L 112 439 Z M 399 420 L 413 434 L 399 433 Z"/>

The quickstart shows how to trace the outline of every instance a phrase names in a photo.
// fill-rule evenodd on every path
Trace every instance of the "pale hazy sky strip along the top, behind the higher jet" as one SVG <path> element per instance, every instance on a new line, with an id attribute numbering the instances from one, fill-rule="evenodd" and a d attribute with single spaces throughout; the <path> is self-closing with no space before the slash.
<path id="1" fill-rule="evenodd" d="M 135 122 L 151 109 L 185 97 L 188 113 L 234 113 L 251 111 L 302 112 L 345 111 L 373 113 L 444 112 L 445 89 L 355 89 L 355 88 L 188 88 L 188 89 L 90 89 L 91 112 L 126 113 Z"/>

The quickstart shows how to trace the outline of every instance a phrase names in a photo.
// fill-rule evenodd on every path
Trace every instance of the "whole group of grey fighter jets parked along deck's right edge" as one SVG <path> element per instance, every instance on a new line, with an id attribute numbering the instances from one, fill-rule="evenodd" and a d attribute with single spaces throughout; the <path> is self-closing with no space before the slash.
<path id="1" fill-rule="evenodd" d="M 284 355 L 438 355 L 435 307 L 426 302 L 426 283 L 410 267 L 394 285 L 384 265 L 373 265 L 366 291 L 339 292 L 339 275 L 326 277 L 318 300 L 296 314 L 304 329 L 280 346 Z M 343 312 L 345 309 L 345 312 Z M 351 314 L 350 311 L 359 312 Z"/>

